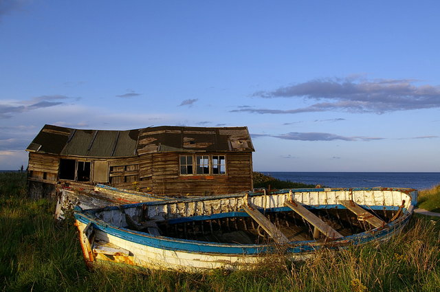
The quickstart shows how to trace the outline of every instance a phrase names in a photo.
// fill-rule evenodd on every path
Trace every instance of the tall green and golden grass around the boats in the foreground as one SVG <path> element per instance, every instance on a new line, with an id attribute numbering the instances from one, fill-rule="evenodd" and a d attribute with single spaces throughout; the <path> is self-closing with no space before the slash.
<path id="1" fill-rule="evenodd" d="M 32 201 L 25 175 L 0 173 L 0 291 L 439 291 L 440 221 L 414 216 L 383 245 L 307 262 L 262 263 L 253 271 L 179 273 L 86 269 L 71 221 L 53 220 L 54 203 Z"/>

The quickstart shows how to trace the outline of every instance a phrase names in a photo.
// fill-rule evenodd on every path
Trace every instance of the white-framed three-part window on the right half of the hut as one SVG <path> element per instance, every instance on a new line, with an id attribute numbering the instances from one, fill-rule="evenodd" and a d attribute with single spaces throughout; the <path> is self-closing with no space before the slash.
<path id="1" fill-rule="evenodd" d="M 195 160 L 195 163 L 192 161 Z M 181 155 L 180 175 L 225 175 L 225 155 Z"/>

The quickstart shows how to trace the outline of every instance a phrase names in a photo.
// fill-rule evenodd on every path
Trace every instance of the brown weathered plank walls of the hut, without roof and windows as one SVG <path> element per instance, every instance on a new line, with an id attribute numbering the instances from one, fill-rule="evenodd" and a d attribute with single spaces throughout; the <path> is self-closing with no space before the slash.
<path id="1" fill-rule="evenodd" d="M 225 155 L 226 175 L 181 176 L 179 153 L 150 153 L 139 157 L 86 160 L 109 161 L 109 184 L 116 188 L 166 196 L 228 194 L 252 190 L 252 153 L 203 154 Z M 80 159 L 30 153 L 29 171 L 34 180 L 56 181 L 60 158 Z"/>

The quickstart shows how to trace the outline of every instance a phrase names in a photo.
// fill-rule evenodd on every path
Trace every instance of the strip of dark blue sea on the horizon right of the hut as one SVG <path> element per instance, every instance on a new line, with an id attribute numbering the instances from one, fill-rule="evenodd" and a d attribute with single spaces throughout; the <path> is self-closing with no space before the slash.
<path id="1" fill-rule="evenodd" d="M 440 172 L 261 172 L 283 181 L 329 188 L 414 188 L 424 190 L 440 184 Z"/>

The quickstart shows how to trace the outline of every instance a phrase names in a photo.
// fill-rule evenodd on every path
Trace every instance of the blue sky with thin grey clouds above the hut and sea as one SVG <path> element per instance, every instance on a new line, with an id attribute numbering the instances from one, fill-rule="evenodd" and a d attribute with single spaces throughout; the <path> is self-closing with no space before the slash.
<path id="1" fill-rule="evenodd" d="M 0 0 L 0 170 L 44 124 L 248 126 L 257 171 L 440 171 L 438 1 Z"/>

